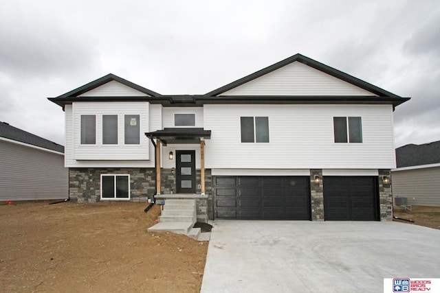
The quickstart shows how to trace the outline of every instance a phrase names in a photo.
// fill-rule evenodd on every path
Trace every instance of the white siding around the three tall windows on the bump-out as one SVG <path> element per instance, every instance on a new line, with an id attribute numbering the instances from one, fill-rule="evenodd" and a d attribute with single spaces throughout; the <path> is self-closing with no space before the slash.
<path id="1" fill-rule="evenodd" d="M 73 104 L 74 121 L 74 157 L 75 160 L 148 160 L 149 141 L 144 132 L 148 132 L 147 102 L 75 102 Z M 96 115 L 96 145 L 80 144 L 81 115 Z M 118 115 L 118 144 L 102 143 L 102 116 Z M 124 143 L 124 120 L 126 115 L 140 115 L 140 143 Z"/>

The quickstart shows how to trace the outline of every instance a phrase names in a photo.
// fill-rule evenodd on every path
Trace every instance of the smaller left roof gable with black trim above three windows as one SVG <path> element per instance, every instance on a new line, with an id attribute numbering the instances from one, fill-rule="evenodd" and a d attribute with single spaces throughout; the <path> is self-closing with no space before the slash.
<path id="1" fill-rule="evenodd" d="M 135 96 L 136 93 L 139 93 L 137 96 L 160 96 L 159 93 L 145 89 L 140 85 L 133 84 L 133 82 L 110 73 L 58 97 L 103 97 L 109 93 L 113 93 L 111 96 L 117 96 L 118 94 L 126 96 L 124 93 L 129 93 L 131 97 Z"/>

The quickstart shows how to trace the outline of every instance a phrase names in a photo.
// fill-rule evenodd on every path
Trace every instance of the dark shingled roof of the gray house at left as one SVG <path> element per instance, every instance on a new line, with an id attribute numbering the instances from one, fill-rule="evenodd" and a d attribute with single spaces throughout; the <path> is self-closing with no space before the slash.
<path id="1" fill-rule="evenodd" d="M 64 153 L 63 145 L 58 145 L 53 141 L 43 139 L 43 137 L 37 137 L 35 134 L 26 132 L 14 126 L 10 126 L 5 122 L 0 121 L 0 137 L 5 139 L 12 139 L 13 141 L 20 141 L 21 143 L 28 143 L 47 150 L 54 150 L 56 152 Z"/>

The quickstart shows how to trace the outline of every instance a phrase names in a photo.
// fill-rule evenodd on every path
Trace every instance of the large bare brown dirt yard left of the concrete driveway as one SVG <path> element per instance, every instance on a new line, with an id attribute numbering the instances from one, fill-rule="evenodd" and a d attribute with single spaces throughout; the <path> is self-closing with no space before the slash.
<path id="1" fill-rule="evenodd" d="M 1 292 L 199 292 L 208 242 L 148 233 L 146 203 L 0 204 Z"/>

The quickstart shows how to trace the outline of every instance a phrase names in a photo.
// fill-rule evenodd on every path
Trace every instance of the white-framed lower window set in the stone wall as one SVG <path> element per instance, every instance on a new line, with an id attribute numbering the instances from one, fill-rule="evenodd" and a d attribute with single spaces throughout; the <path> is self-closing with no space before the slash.
<path id="1" fill-rule="evenodd" d="M 130 176 L 101 174 L 102 200 L 129 200 Z"/>

